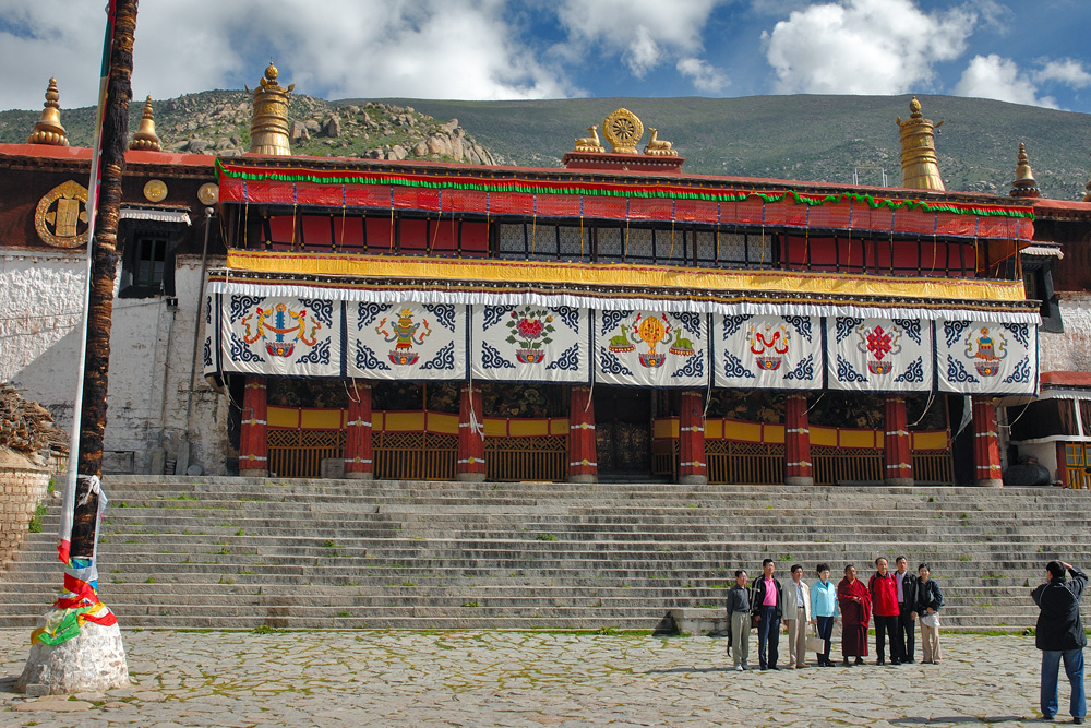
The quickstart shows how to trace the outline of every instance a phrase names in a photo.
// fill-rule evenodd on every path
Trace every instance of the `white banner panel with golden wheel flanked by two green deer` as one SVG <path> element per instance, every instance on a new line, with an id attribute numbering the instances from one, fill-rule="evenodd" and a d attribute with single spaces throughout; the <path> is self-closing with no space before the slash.
<path id="1" fill-rule="evenodd" d="M 595 381 L 625 386 L 708 386 L 708 317 L 596 311 Z"/>

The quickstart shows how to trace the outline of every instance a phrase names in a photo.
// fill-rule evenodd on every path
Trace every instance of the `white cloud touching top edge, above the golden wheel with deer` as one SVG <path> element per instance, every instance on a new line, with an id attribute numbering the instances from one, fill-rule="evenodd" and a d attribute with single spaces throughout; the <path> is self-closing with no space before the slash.
<path id="1" fill-rule="evenodd" d="M 561 49 L 588 60 L 588 49 L 620 55 L 643 79 L 664 60 L 696 57 L 700 36 L 716 5 L 724 0 L 562 0 L 558 20 L 568 34 Z"/>

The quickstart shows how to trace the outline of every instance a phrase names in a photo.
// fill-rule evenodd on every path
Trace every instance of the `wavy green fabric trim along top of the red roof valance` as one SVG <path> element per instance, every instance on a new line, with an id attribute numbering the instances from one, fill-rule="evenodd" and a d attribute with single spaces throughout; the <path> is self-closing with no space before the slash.
<path id="1" fill-rule="evenodd" d="M 1026 217 L 1034 219 L 1034 212 L 1031 210 L 1011 210 L 1006 207 L 974 207 L 970 205 L 959 205 L 957 203 L 940 202 L 931 203 L 921 200 L 891 200 L 889 198 L 875 198 L 871 194 L 860 194 L 855 192 L 842 192 L 828 194 L 825 196 L 812 196 L 806 193 L 801 194 L 795 190 L 788 190 L 782 193 L 762 192 L 685 192 L 682 190 L 647 190 L 647 189 L 596 189 L 580 187 L 537 187 L 531 183 L 506 182 L 497 184 L 483 184 L 473 182 L 446 182 L 428 181 L 419 179 L 406 179 L 403 177 L 325 177 L 301 172 L 278 172 L 278 171 L 231 171 L 224 167 L 219 159 L 216 159 L 216 169 L 220 175 L 232 179 L 247 181 L 278 181 L 278 182 L 310 182 L 313 184 L 389 184 L 392 187 L 418 188 L 425 190 L 469 190 L 476 192 L 516 192 L 523 194 L 571 194 L 602 198 L 624 198 L 638 200 L 700 200 L 705 202 L 742 202 L 747 198 L 758 198 L 764 202 L 781 202 L 789 195 L 796 204 L 822 206 L 826 204 L 838 204 L 846 200 L 852 202 L 866 203 L 872 210 L 886 207 L 891 211 L 920 210 L 928 213 L 952 213 L 956 215 L 978 215 L 981 217 Z"/>

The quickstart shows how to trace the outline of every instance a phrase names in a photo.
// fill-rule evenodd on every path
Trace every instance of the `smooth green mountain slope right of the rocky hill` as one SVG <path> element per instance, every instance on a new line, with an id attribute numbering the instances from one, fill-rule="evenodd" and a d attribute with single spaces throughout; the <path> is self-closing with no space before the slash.
<path id="1" fill-rule="evenodd" d="M 1043 194 L 1067 200 L 1084 194 L 1091 115 L 954 96 L 918 98 L 926 117 L 946 121 L 936 146 L 948 189 L 1006 193 L 1019 142 L 1026 142 Z M 895 118 L 909 117 L 910 96 L 391 100 L 436 118 L 458 118 L 493 154 L 516 165 L 559 165 L 588 126 L 601 128 L 607 114 L 624 106 L 674 142 L 687 171 L 851 183 L 855 166 L 878 165 L 889 184 L 899 184 Z M 877 186 L 879 174 L 861 172 L 860 181 Z"/>

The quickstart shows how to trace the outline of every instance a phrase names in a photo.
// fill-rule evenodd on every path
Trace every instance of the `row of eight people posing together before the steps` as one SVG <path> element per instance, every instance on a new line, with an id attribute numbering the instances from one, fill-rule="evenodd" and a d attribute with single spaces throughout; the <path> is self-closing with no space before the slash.
<path id="1" fill-rule="evenodd" d="M 762 575 L 750 583 L 745 570 L 735 572 L 735 584 L 728 592 L 728 649 L 736 670 L 750 669 L 750 634 L 757 629 L 758 665 L 763 670 L 778 670 L 781 622 L 788 632 L 788 667 L 806 667 L 807 631 L 822 642 L 817 649 L 819 667 L 836 667 L 829 653 L 834 623 L 841 619 L 841 664 L 863 665 L 867 657 L 868 623 L 875 623 L 877 665 L 886 665 L 887 640 L 890 665 L 915 661 L 915 623 L 921 622 L 924 663 L 939 664 L 939 610 L 944 595 L 932 580 L 932 570 L 922 563 L 916 573 L 909 571 L 906 557 L 895 559 L 896 571 L 883 557 L 875 560 L 875 573 L 864 585 L 852 564 L 844 568 L 844 578 L 837 586 L 829 580 L 829 566 L 820 563 L 818 578 L 807 584 L 803 566 L 792 566 L 792 578 L 781 584 L 775 576 L 772 559 L 762 562 Z"/>

